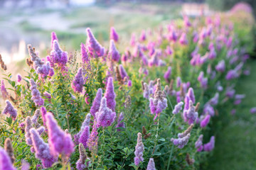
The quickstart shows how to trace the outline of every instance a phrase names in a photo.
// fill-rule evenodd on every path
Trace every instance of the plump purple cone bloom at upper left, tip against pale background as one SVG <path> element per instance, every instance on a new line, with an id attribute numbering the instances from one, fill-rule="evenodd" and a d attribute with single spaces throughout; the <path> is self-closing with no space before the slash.
<path id="1" fill-rule="evenodd" d="M 57 40 L 53 40 L 53 50 L 50 52 L 50 58 L 53 63 L 58 64 L 60 67 L 65 66 L 68 62 L 68 52 L 60 49 Z"/>

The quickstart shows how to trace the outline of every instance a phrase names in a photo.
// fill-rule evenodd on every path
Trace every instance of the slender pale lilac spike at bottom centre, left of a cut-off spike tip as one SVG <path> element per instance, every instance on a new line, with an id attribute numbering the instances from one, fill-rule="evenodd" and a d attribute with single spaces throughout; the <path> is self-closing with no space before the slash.
<path id="1" fill-rule="evenodd" d="M 138 138 L 137 138 L 137 145 L 135 147 L 135 157 L 134 157 L 134 164 L 139 166 L 140 162 L 143 162 L 143 152 L 144 152 L 144 145 L 142 143 L 142 133 L 138 132 Z"/>

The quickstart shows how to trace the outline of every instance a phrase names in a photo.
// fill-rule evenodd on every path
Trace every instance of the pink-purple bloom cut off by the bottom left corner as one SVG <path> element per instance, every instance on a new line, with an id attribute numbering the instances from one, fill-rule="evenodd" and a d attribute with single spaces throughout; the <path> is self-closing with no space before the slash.
<path id="1" fill-rule="evenodd" d="M 0 170 L 16 170 L 11 164 L 11 159 L 6 151 L 0 147 Z"/>

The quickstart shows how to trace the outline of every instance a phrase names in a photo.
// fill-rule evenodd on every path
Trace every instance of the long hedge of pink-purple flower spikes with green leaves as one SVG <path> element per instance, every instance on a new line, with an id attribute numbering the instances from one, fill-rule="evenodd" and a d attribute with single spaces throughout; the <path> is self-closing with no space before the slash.
<path id="1" fill-rule="evenodd" d="M 87 28 L 73 55 L 52 33 L 48 56 L 28 45 L 16 79 L 0 60 L 0 170 L 196 169 L 214 149 L 216 117 L 245 97 L 234 86 L 252 42 L 233 15 L 133 33 L 124 52 L 114 28 L 109 50 Z"/>

